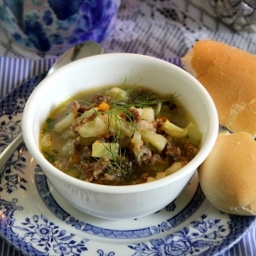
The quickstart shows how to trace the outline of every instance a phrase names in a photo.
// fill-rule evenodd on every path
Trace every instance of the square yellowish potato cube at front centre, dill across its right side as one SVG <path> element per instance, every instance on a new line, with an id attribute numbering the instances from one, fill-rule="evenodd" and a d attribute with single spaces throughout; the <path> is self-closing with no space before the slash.
<path id="1" fill-rule="evenodd" d="M 93 157 L 106 157 L 114 159 L 118 155 L 119 145 L 117 143 L 100 143 L 95 141 L 92 144 L 92 156 Z"/>

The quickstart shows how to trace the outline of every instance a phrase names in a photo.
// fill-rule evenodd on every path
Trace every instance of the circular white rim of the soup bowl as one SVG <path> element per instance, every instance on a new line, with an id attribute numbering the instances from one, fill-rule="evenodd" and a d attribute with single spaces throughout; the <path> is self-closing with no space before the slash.
<path id="1" fill-rule="evenodd" d="M 69 176 L 68 174 L 63 173 L 58 168 L 55 168 L 52 166 L 47 159 L 41 155 L 40 150 L 36 146 L 36 143 L 34 140 L 31 140 L 30 134 L 33 131 L 33 125 L 29 125 L 29 116 L 31 116 L 32 108 L 30 105 L 34 104 L 40 95 L 41 90 L 45 90 L 45 88 L 50 87 L 50 83 L 47 83 L 47 81 L 50 79 L 50 77 L 54 77 L 57 75 L 65 74 L 65 71 L 68 70 L 71 66 L 79 65 L 80 63 L 83 63 L 84 61 L 90 61 L 93 59 L 108 59 L 108 58 L 144 58 L 146 61 L 158 61 L 160 65 L 167 65 L 169 68 L 173 69 L 175 73 L 181 74 L 186 79 L 189 79 L 194 86 L 198 89 L 200 92 L 200 95 L 202 95 L 206 102 L 208 103 L 207 109 L 209 111 L 209 118 L 210 118 L 210 124 L 209 124 L 209 131 L 208 135 L 204 141 L 204 144 L 202 145 L 200 151 L 197 155 L 195 155 L 195 158 L 193 158 L 185 167 L 181 168 L 177 172 L 168 175 L 165 178 L 162 178 L 160 180 L 154 181 L 154 182 L 146 182 L 141 184 L 135 184 L 135 185 L 122 185 L 122 186 L 112 186 L 112 185 L 102 185 L 102 184 L 95 184 L 91 182 L 84 182 L 81 180 L 78 180 L 74 177 Z M 33 156 L 35 161 L 38 163 L 38 165 L 42 165 L 41 167 L 44 171 L 44 173 L 47 175 L 47 172 L 56 177 L 57 179 L 61 179 L 62 182 L 67 182 L 70 185 L 74 185 L 75 187 L 79 187 L 81 189 L 86 189 L 89 191 L 99 192 L 99 193 L 105 193 L 105 194 L 131 194 L 131 193 L 138 193 L 138 192 L 146 192 L 149 190 L 157 189 L 162 186 L 166 186 L 169 183 L 176 182 L 182 177 L 193 174 L 196 171 L 196 168 L 205 160 L 205 158 L 209 155 L 219 132 L 219 120 L 218 120 L 218 114 L 215 107 L 214 102 L 212 101 L 209 92 L 206 88 L 204 88 L 201 83 L 195 79 L 195 77 L 192 74 L 187 73 L 185 70 L 183 70 L 181 67 L 168 62 L 164 61 L 155 57 L 141 55 L 141 54 L 134 54 L 134 53 L 107 53 L 97 56 L 91 56 L 85 59 L 81 59 L 78 61 L 74 61 L 72 63 L 69 63 L 63 67 L 61 67 L 59 70 L 55 71 L 53 74 L 50 74 L 47 76 L 44 80 L 42 80 L 36 88 L 34 88 L 33 93 L 29 97 L 28 101 L 26 102 L 23 116 L 22 116 L 22 134 L 24 141 L 27 145 L 27 148 L 30 152 L 33 152 Z M 40 163 L 40 164 L 39 164 Z M 47 168 L 47 170 L 45 170 Z"/>

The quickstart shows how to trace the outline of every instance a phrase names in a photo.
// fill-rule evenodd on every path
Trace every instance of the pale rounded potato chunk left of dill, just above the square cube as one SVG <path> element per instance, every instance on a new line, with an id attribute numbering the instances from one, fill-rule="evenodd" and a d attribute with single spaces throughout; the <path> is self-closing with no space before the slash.
<path id="1" fill-rule="evenodd" d="M 92 121 L 89 121 L 78 129 L 78 133 L 84 138 L 96 137 L 106 134 L 107 132 L 107 126 L 99 116 L 95 117 Z"/>

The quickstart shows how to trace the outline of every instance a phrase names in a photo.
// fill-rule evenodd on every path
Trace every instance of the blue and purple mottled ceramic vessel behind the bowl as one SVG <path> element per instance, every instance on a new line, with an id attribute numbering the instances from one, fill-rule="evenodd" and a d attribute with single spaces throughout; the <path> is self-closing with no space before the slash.
<path id="1" fill-rule="evenodd" d="M 101 42 L 115 26 L 121 0 L 1 0 L 5 33 L 21 47 L 60 54 L 84 41 Z"/>

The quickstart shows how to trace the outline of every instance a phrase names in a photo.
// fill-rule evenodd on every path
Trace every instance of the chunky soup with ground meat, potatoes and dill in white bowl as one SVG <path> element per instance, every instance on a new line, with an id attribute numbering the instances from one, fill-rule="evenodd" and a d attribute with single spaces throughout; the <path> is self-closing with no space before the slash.
<path id="1" fill-rule="evenodd" d="M 41 153 L 85 182 L 130 185 L 164 178 L 200 147 L 201 133 L 178 98 L 124 85 L 81 92 L 48 115 Z"/>

